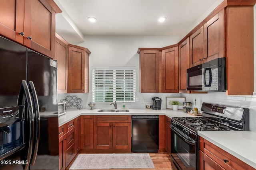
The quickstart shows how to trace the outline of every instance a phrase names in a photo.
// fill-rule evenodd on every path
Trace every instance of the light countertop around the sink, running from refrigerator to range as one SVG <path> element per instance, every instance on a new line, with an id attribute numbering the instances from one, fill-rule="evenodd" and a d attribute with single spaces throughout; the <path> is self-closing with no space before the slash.
<path id="1" fill-rule="evenodd" d="M 182 110 L 128 109 L 129 112 L 98 112 L 98 110 L 99 109 L 67 109 L 66 114 L 59 117 L 59 126 L 64 125 L 80 115 L 166 115 L 168 117 L 195 117 L 194 115 L 184 113 Z"/>

